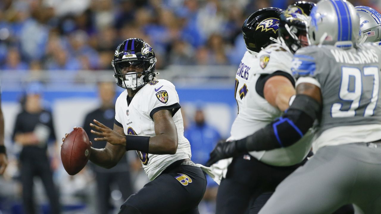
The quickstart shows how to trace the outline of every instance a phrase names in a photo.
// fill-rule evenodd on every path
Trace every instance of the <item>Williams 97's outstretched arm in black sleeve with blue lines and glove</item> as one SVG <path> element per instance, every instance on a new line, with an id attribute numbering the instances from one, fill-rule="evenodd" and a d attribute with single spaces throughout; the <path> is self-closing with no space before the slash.
<path id="1" fill-rule="evenodd" d="M 296 88 L 295 100 L 282 117 L 238 141 L 219 142 L 210 153 L 207 165 L 241 152 L 272 150 L 293 145 L 312 127 L 320 114 L 321 103 L 319 87 L 311 83 L 300 83 Z"/>

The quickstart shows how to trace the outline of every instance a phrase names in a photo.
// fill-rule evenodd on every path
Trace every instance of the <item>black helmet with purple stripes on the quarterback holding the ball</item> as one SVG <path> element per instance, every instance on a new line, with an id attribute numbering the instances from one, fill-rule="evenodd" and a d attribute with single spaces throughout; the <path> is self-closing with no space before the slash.
<path id="1" fill-rule="evenodd" d="M 126 89 L 141 88 L 157 74 L 154 50 L 141 38 L 129 38 L 120 44 L 111 64 L 117 85 Z"/>

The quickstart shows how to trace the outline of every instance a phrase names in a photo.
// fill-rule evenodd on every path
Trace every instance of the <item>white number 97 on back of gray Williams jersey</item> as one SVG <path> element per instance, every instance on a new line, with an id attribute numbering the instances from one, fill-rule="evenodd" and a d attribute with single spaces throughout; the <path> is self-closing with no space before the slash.
<path id="1" fill-rule="evenodd" d="M 374 114 L 379 93 L 379 69 L 378 67 L 364 67 L 363 75 L 373 76 L 373 90 L 371 99 L 365 108 L 364 117 Z M 354 80 L 354 89 L 350 90 L 350 81 Z M 332 117 L 354 117 L 356 109 L 360 106 L 360 99 L 363 93 L 362 72 L 355 67 L 343 67 L 341 70 L 341 85 L 339 98 L 343 101 L 352 101 L 348 110 L 341 110 L 342 103 L 334 103 L 331 107 Z"/>

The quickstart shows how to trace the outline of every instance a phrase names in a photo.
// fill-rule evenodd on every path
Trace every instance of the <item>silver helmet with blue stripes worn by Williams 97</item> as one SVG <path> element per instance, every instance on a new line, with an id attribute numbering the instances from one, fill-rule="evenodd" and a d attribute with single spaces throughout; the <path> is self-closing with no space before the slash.
<path id="1" fill-rule="evenodd" d="M 359 37 L 360 21 L 354 6 L 346 0 L 320 0 L 310 14 L 311 45 L 351 47 Z"/>

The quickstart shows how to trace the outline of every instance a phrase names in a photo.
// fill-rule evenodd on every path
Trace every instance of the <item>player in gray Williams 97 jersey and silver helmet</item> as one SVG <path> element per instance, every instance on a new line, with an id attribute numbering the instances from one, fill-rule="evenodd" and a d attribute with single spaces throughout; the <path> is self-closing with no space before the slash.
<path id="1" fill-rule="evenodd" d="M 348 203 L 360 213 L 381 213 L 381 50 L 371 43 L 355 45 L 359 24 L 351 3 L 317 3 L 308 28 L 317 46 L 295 53 L 297 95 L 290 108 L 223 148 L 231 156 L 287 147 L 318 120 L 314 157 L 283 180 L 260 214 L 328 214 Z"/>

